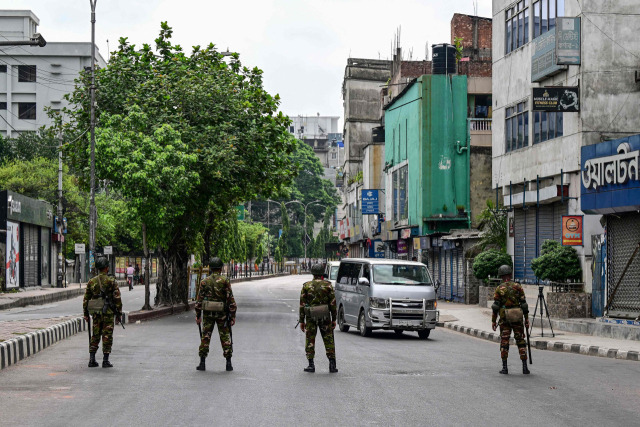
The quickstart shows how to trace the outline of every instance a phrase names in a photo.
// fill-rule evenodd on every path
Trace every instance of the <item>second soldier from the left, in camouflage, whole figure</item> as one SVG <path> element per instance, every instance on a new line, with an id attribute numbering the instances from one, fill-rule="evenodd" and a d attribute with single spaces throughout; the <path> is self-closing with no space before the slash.
<path id="1" fill-rule="evenodd" d="M 220 343 L 224 357 L 227 359 L 227 371 L 233 371 L 231 365 L 231 355 L 233 346 L 231 342 L 231 327 L 236 323 L 236 300 L 233 298 L 231 291 L 231 282 L 225 276 L 222 276 L 222 261 L 220 258 L 212 258 L 209 262 L 209 271 L 211 276 L 200 282 L 198 296 L 196 298 L 196 323 L 201 322 L 201 313 L 204 312 L 204 331 L 202 332 L 202 340 L 198 353 L 200 355 L 200 365 L 196 367 L 199 371 L 205 370 L 205 359 L 209 354 L 209 343 L 211 342 L 211 334 L 213 326 L 218 325 L 218 334 L 220 335 Z M 211 311 L 210 303 L 221 303 L 219 311 Z"/>

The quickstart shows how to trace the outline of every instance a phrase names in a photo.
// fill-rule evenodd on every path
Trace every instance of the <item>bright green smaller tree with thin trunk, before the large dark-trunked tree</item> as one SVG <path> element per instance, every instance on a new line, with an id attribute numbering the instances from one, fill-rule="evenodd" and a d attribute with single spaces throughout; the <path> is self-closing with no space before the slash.
<path id="1" fill-rule="evenodd" d="M 142 246 L 146 259 L 145 303 L 150 310 L 149 243 L 167 246 L 166 230 L 184 213 L 183 198 L 198 184 L 194 166 L 197 156 L 189 152 L 180 134 L 162 125 L 147 134 L 148 116 L 133 105 L 125 115 L 104 113 L 96 132 L 96 173 L 108 179 L 134 209 L 142 225 Z"/>

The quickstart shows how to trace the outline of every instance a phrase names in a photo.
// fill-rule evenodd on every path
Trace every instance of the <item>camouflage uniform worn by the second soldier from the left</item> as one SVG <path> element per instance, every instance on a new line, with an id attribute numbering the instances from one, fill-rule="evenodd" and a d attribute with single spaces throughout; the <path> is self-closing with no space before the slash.
<path id="1" fill-rule="evenodd" d="M 236 300 L 233 298 L 231 282 L 229 282 L 229 279 L 226 277 L 213 275 L 200 282 L 198 297 L 196 299 L 196 317 L 198 318 L 202 312 L 203 301 L 223 302 L 226 310 L 228 310 L 231 315 L 231 320 L 236 318 L 238 306 L 236 305 Z M 231 325 L 225 326 L 226 321 L 227 314 L 224 311 L 204 312 L 204 318 L 202 319 L 204 330 L 202 331 L 202 341 L 198 349 L 200 357 L 207 357 L 209 354 L 209 344 L 211 343 L 211 334 L 213 333 L 215 324 L 218 325 L 218 334 L 220 335 L 220 344 L 222 344 L 224 357 L 227 359 L 231 357 L 233 353 L 231 346 Z"/>

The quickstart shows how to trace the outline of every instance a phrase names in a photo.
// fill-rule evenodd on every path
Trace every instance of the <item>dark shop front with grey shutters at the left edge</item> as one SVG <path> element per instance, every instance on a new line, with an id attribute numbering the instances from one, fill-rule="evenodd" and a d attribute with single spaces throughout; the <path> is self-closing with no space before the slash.
<path id="1" fill-rule="evenodd" d="M 0 192 L 0 226 L 5 230 L 0 243 L 3 289 L 51 285 L 53 212 L 53 206 L 42 200 Z"/>

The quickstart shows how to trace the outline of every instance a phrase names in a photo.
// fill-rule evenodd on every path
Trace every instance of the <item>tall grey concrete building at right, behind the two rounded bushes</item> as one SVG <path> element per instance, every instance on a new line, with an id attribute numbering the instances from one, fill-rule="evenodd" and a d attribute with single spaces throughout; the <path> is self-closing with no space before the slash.
<path id="1" fill-rule="evenodd" d="M 536 281 L 531 260 L 545 240 L 560 241 L 562 216 L 583 214 L 581 147 L 640 130 L 639 12 L 635 0 L 493 0 L 492 184 L 509 209 L 519 281 Z M 567 42 L 556 40 L 559 29 L 572 31 L 578 46 L 573 65 L 557 63 Z M 577 112 L 534 111 L 533 90 L 555 87 L 572 92 L 567 104 Z M 587 290 L 590 237 L 603 231 L 599 215 L 584 216 L 584 243 L 575 248 Z"/>

